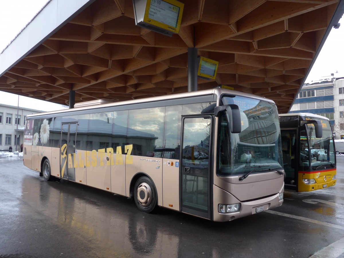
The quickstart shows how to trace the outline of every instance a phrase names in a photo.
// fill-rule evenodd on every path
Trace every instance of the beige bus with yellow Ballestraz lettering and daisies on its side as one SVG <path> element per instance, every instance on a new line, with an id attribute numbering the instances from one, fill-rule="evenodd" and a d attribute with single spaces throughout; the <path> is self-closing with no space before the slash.
<path id="1" fill-rule="evenodd" d="M 272 100 L 214 88 L 27 116 L 24 165 L 217 222 L 282 205 Z"/>

